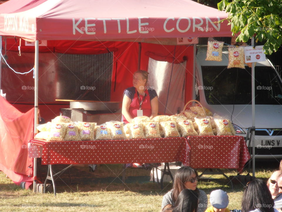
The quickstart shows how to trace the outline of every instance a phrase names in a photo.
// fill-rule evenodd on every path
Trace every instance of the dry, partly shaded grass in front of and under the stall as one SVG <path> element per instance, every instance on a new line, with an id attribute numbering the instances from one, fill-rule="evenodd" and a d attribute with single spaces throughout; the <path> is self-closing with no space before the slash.
<path id="1" fill-rule="evenodd" d="M 273 170 L 258 169 L 256 177 L 266 181 Z M 41 167 L 41 172 L 43 176 L 44 167 Z M 157 183 L 148 182 L 150 171 L 141 169 L 127 169 L 126 182 L 129 183 L 125 185 L 119 179 L 113 181 L 117 175 L 122 176 L 121 165 L 103 165 L 94 173 L 88 172 L 85 167 L 72 167 L 69 173 L 72 182 L 69 180 L 68 171 L 63 173 L 60 176 L 62 180 L 56 181 L 57 196 L 54 197 L 53 193 L 41 194 L 33 193 L 32 190 L 23 190 L 0 172 L 0 211 L 159 212 L 162 196 L 172 188 L 172 183 L 164 183 L 164 189 L 161 190 Z M 236 175 L 235 170 L 231 172 L 224 170 L 224 173 L 227 176 Z M 246 175 L 247 172 L 243 174 Z M 198 188 L 204 190 L 208 198 L 212 190 L 223 189 L 229 195 L 228 208 L 241 208 L 243 184 L 234 185 L 232 190 L 227 185 L 228 180 L 222 175 L 204 175 L 204 177 L 216 178 L 215 180 L 200 180 L 198 183 Z"/>

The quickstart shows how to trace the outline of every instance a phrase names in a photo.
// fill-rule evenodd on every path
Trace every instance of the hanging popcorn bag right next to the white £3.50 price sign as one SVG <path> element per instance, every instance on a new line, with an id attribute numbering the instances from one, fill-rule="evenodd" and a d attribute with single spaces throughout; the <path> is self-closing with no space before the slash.
<path id="1" fill-rule="evenodd" d="M 229 46 L 229 63 L 227 68 L 242 68 L 245 69 L 244 47 Z"/>

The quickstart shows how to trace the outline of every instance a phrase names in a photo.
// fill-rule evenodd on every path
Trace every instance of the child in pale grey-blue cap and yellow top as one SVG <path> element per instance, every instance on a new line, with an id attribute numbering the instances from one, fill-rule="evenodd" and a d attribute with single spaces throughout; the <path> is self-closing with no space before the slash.
<path id="1" fill-rule="evenodd" d="M 227 208 L 229 204 L 229 199 L 225 191 L 212 191 L 209 197 L 209 201 L 212 206 L 207 208 L 205 212 L 230 212 L 230 210 Z"/>

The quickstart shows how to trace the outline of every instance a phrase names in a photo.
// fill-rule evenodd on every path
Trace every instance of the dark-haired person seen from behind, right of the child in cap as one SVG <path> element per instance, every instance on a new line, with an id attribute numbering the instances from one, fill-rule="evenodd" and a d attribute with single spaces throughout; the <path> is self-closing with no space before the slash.
<path id="1" fill-rule="evenodd" d="M 247 183 L 242 197 L 241 212 L 278 212 L 265 182 L 255 179 Z"/>

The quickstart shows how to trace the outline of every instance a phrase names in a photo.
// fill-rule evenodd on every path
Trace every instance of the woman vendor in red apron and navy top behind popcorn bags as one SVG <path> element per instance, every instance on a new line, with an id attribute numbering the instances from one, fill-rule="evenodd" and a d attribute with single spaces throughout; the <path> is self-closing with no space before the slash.
<path id="1" fill-rule="evenodd" d="M 151 119 L 158 114 L 158 96 L 155 90 L 147 89 L 148 72 L 140 70 L 133 74 L 133 87 L 125 89 L 122 100 L 122 120 L 131 123 L 137 116 Z"/>

